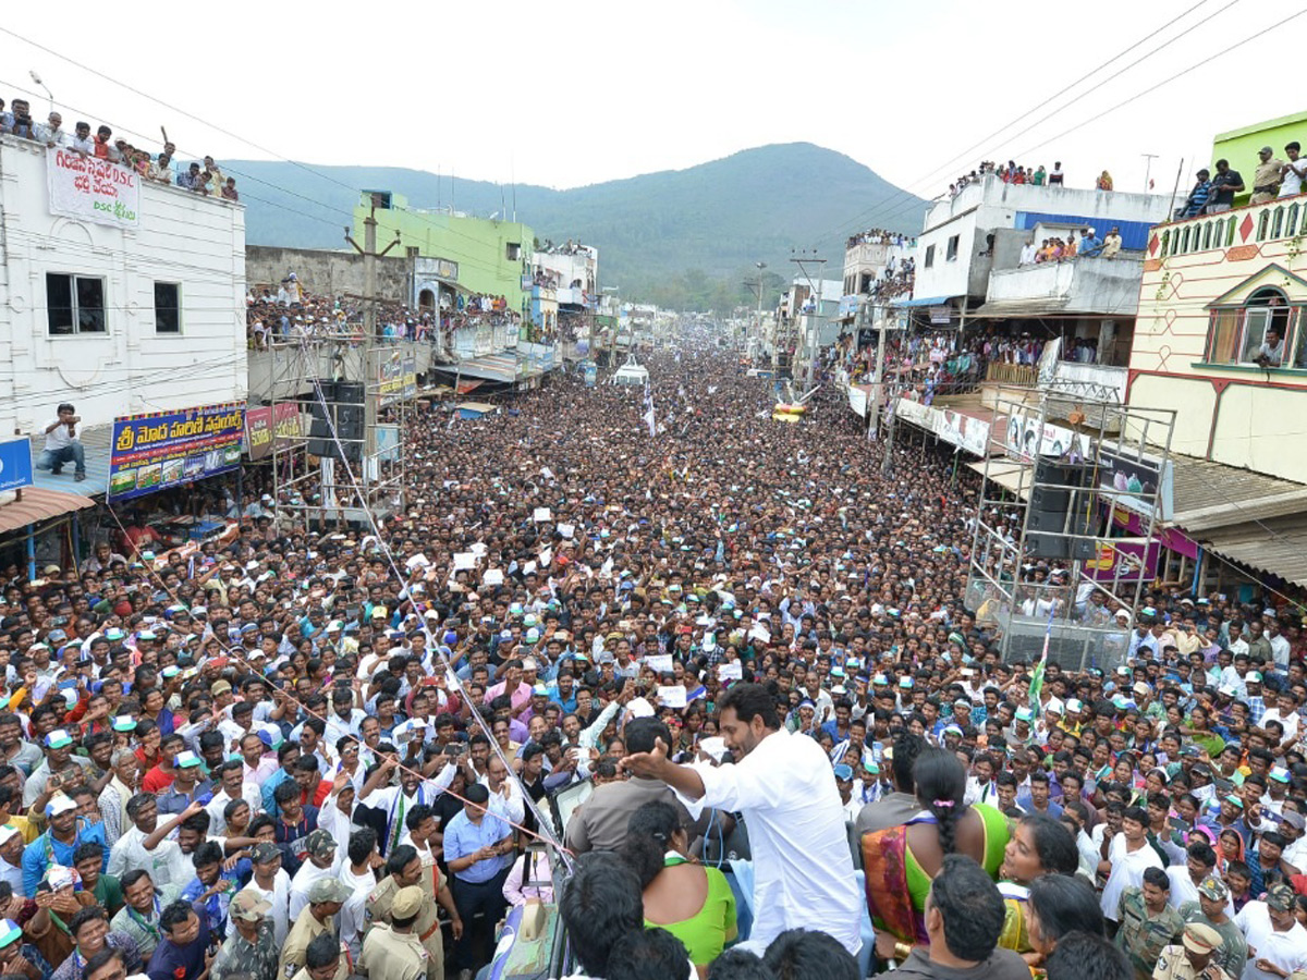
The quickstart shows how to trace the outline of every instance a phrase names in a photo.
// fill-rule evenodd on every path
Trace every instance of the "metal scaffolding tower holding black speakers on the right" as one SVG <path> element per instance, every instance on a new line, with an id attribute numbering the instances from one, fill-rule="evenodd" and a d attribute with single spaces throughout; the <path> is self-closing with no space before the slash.
<path id="1" fill-rule="evenodd" d="M 1102 395 L 1052 382 L 996 396 L 967 608 L 999 627 L 1005 660 L 1036 659 L 1046 634 L 1067 670 L 1127 657 L 1171 512 L 1176 413 Z"/>

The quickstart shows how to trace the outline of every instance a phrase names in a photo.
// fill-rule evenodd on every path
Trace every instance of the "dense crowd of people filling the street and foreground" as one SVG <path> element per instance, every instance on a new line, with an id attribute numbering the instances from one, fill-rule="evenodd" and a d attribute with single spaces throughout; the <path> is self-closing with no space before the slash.
<path id="1" fill-rule="evenodd" d="M 4 972 L 471 976 L 538 902 L 616 980 L 1307 967 L 1291 609 L 1155 584 L 1119 662 L 1004 660 L 951 453 L 695 351 L 420 417 L 375 528 L 7 570 Z"/>

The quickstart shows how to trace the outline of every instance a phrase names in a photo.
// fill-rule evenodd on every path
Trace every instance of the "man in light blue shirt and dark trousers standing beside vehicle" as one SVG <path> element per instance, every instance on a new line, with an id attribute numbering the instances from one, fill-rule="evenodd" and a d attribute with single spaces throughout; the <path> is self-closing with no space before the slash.
<path id="1" fill-rule="evenodd" d="M 463 938 L 454 945 L 450 966 L 476 972 L 490 962 L 494 925 L 508 904 L 503 882 L 512 865 L 512 827 L 488 809 L 490 791 L 480 783 L 468 787 L 464 798 L 463 811 L 444 831 L 454 903 L 467 924 Z"/>

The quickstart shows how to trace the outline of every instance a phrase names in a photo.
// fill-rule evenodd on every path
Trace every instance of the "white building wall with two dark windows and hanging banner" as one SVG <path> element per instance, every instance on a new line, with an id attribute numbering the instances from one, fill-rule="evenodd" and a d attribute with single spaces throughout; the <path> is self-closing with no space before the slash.
<path id="1" fill-rule="evenodd" d="M 0 137 L 0 426 L 247 395 L 244 208 Z"/>

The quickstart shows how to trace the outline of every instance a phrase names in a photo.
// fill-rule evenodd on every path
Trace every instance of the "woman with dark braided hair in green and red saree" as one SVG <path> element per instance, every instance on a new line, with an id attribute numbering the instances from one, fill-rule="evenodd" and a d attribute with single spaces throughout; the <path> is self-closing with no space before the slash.
<path id="1" fill-rule="evenodd" d="M 1008 843 L 1001 813 L 984 804 L 963 804 L 966 770 L 953 753 L 923 749 L 912 780 L 920 813 L 898 827 L 861 838 L 872 924 L 878 933 L 908 945 L 927 942 L 925 898 L 945 855 L 967 855 L 996 877 Z"/>

